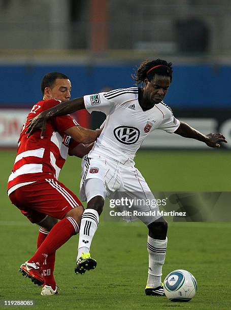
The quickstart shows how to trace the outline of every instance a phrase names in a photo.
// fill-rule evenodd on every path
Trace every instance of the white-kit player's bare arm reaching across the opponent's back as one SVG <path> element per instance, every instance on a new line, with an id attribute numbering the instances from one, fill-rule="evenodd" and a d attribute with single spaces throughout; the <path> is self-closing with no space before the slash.
<path id="1" fill-rule="evenodd" d="M 45 130 L 46 130 L 46 122 L 49 119 L 56 117 L 56 116 L 71 114 L 81 109 L 85 109 L 83 97 L 76 98 L 73 100 L 63 101 L 55 105 L 54 107 L 41 112 L 34 119 L 29 120 L 26 134 L 28 134 L 28 137 L 29 137 L 33 132 L 41 128 L 41 138 L 43 139 L 45 135 Z"/>

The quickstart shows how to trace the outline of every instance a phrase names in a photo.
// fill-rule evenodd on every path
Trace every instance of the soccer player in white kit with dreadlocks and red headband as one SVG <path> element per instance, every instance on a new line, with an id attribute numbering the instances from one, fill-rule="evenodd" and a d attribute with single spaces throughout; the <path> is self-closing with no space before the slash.
<path id="1" fill-rule="evenodd" d="M 81 108 L 89 113 L 101 111 L 107 115 L 100 137 L 82 161 L 80 196 L 87 201 L 87 209 L 81 219 L 76 273 L 83 274 L 96 266 L 89 251 L 106 196 L 114 198 L 115 193 L 126 192 L 126 196 L 130 193 L 132 198 L 154 200 L 134 162 L 137 150 L 150 132 L 161 129 L 200 140 L 210 147 L 219 147 L 219 142 L 226 142 L 219 133 L 204 135 L 180 122 L 162 101 L 172 81 L 172 63 L 160 59 L 144 61 L 137 70 L 135 81 L 143 83 L 143 87 L 117 89 L 61 103 L 42 112 L 28 127 L 28 132 L 42 127 L 43 136 L 45 122 L 56 115 Z M 130 208 L 131 212 L 150 210 L 157 211 L 158 206 L 145 204 Z M 161 275 L 167 250 L 168 223 L 160 215 L 138 217 L 148 227 L 149 267 L 145 293 L 164 296 Z"/>

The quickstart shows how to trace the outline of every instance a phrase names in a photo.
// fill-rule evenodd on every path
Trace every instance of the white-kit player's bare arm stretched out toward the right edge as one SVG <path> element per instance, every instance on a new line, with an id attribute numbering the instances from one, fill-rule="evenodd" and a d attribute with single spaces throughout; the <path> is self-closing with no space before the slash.
<path id="1" fill-rule="evenodd" d="M 180 126 L 174 133 L 185 138 L 192 138 L 202 141 L 210 147 L 220 147 L 220 142 L 227 143 L 225 137 L 220 133 L 210 133 L 208 135 L 204 135 L 184 122 L 180 122 Z"/>

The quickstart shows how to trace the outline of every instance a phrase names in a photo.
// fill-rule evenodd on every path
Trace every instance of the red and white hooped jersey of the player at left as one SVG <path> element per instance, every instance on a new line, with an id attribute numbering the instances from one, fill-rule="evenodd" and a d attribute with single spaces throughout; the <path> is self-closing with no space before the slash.
<path id="1" fill-rule="evenodd" d="M 55 99 L 39 101 L 27 115 L 18 140 L 13 170 L 8 179 L 8 195 L 24 183 L 44 178 L 58 179 L 59 172 L 67 159 L 69 148 L 78 144 L 76 141 L 72 142 L 73 139 L 64 133 L 68 128 L 79 125 L 70 115 L 49 120 L 43 139 L 40 138 L 40 130 L 37 130 L 29 138 L 25 134 L 29 119 L 59 103 L 60 101 Z"/>

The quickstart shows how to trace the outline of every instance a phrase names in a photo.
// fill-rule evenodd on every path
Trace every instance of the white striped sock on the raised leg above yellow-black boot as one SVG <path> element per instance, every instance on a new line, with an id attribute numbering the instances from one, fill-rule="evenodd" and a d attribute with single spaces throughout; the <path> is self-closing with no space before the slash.
<path id="1" fill-rule="evenodd" d="M 82 253 L 90 252 L 91 241 L 97 229 L 97 225 L 98 212 L 94 209 L 86 209 L 81 219 L 77 260 Z"/>

